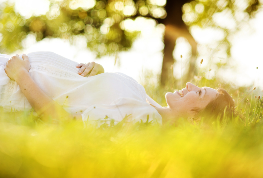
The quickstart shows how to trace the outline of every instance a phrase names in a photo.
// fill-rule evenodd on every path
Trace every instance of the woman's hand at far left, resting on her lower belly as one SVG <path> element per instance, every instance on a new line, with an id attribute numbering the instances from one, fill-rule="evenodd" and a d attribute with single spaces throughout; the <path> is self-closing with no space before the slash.
<path id="1" fill-rule="evenodd" d="M 18 54 L 12 56 L 5 65 L 5 72 L 9 78 L 17 81 L 18 77 L 30 69 L 30 62 L 27 55 L 23 54 L 23 60 L 19 58 Z"/>

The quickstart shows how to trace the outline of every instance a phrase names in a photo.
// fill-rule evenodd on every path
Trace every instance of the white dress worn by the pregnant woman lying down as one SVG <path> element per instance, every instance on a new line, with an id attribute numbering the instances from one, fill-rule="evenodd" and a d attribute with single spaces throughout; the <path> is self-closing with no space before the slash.
<path id="1" fill-rule="evenodd" d="M 77 74 L 77 62 L 53 52 L 32 52 L 27 56 L 29 74 L 36 84 L 67 112 L 81 114 L 83 121 L 110 124 L 114 119 L 117 124 L 131 114 L 131 122 L 146 122 L 149 115 L 149 122 L 162 123 L 161 115 L 146 102 L 146 97 L 151 103 L 154 101 L 146 95 L 144 87 L 125 74 L 82 77 Z M 4 71 L 10 57 L 0 54 L 0 106 L 5 112 L 29 110 L 32 107 L 17 82 Z M 156 102 L 153 105 L 161 107 Z"/>

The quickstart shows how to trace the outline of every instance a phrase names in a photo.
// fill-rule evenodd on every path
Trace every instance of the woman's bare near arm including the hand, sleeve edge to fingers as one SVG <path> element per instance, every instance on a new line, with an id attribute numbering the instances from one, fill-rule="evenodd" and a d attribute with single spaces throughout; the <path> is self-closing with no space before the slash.
<path id="1" fill-rule="evenodd" d="M 30 77 L 28 71 L 30 63 L 26 55 L 22 56 L 21 60 L 18 55 L 13 56 L 5 66 L 7 76 L 15 80 L 20 89 L 26 96 L 30 105 L 36 111 L 38 116 L 42 116 L 44 121 L 52 119 L 68 119 L 72 117 L 62 106 L 52 100 Z"/>

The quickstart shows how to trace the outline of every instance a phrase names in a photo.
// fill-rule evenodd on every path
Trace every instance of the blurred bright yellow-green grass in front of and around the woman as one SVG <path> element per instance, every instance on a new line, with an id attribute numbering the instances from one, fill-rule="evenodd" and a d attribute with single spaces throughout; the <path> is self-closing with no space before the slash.
<path id="1" fill-rule="evenodd" d="M 161 104 L 173 90 L 145 88 Z M 243 111 L 245 104 L 239 106 Z M 0 177 L 263 177 L 263 125 L 260 114 L 251 114 L 256 100 L 251 104 L 246 123 L 215 121 L 209 129 L 183 119 L 176 127 L 83 128 L 79 121 L 52 125 L 30 113 L 0 113 Z"/>

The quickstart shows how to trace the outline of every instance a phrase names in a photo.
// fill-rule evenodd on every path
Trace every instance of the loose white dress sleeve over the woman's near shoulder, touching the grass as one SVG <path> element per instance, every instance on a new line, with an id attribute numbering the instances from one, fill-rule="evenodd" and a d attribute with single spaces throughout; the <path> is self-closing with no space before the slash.
<path id="1" fill-rule="evenodd" d="M 116 125 L 124 118 L 128 122 L 148 122 L 162 125 L 161 115 L 154 107 L 146 102 L 133 98 L 119 98 L 110 105 L 95 104 L 86 109 L 82 114 L 82 121 L 87 124 L 100 126 L 104 123 L 107 125 Z"/>

